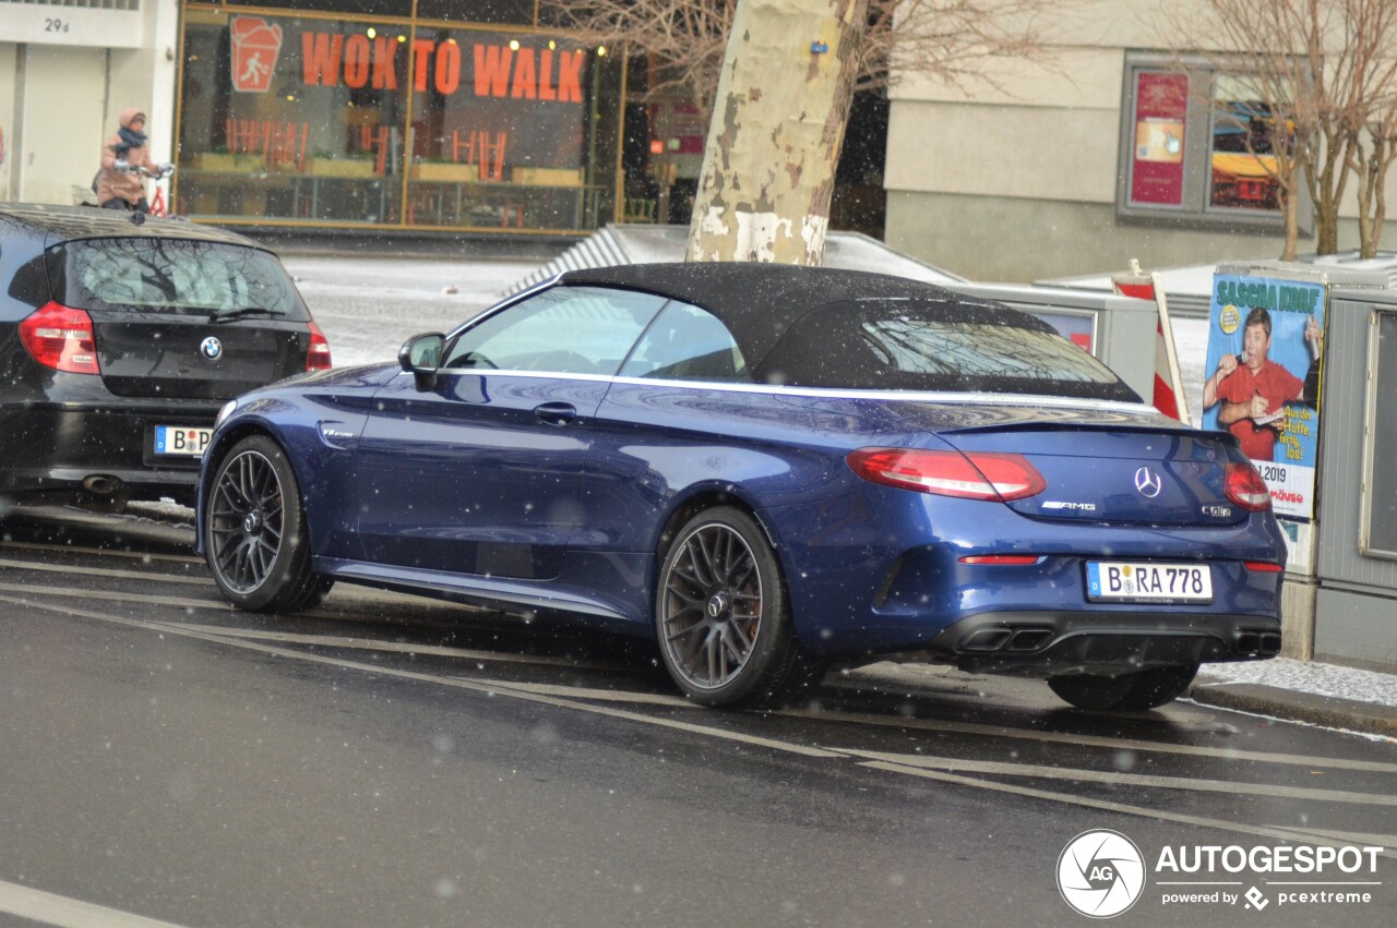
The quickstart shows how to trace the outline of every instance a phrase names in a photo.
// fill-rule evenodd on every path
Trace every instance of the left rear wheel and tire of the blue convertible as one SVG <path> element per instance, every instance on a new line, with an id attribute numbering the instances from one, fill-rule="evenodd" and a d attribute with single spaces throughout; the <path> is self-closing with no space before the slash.
<path id="1" fill-rule="evenodd" d="M 775 708 L 824 675 L 766 532 L 733 507 L 698 512 L 661 551 L 655 632 L 675 684 L 705 706 Z"/>

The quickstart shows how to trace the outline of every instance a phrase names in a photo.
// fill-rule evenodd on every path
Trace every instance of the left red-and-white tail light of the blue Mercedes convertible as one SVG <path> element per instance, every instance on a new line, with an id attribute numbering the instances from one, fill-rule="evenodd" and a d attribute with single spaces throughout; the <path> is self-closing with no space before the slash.
<path id="1" fill-rule="evenodd" d="M 845 461 L 854 473 L 872 483 L 940 497 L 1007 502 L 1048 487 L 1023 455 L 861 448 Z"/>

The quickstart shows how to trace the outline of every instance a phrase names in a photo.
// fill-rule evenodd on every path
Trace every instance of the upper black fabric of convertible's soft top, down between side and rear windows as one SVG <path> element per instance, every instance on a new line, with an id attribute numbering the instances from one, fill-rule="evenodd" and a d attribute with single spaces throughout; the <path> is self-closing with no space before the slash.
<path id="1" fill-rule="evenodd" d="M 800 317 L 831 303 L 902 299 L 996 307 L 1014 313 L 997 303 L 986 303 L 921 280 L 791 264 L 633 264 L 567 271 L 562 280 L 644 290 L 703 307 L 728 327 L 750 363 L 760 363 Z M 1032 317 L 1025 314 L 1023 318 L 1025 325 L 1038 327 Z"/>

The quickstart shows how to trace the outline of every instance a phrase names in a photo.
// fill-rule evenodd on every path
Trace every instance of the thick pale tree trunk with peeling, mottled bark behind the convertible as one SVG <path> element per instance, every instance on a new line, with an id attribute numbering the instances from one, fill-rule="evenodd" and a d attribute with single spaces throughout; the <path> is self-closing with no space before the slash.
<path id="1" fill-rule="evenodd" d="M 718 81 L 689 261 L 817 265 L 868 0 L 742 0 Z"/>

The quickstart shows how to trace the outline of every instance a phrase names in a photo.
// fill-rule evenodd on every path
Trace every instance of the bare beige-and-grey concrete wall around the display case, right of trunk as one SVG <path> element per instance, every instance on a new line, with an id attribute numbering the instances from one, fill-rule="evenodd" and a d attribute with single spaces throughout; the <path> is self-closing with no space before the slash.
<path id="1" fill-rule="evenodd" d="M 1165 52 L 1165 17 L 1187 18 L 1197 6 L 1067 4 L 1044 14 L 1046 63 L 996 61 L 986 80 L 961 87 L 900 75 L 890 91 L 888 244 L 985 280 L 1091 274 L 1130 258 L 1160 268 L 1280 257 L 1278 230 L 1116 215 L 1127 54 Z M 1356 215 L 1352 190 L 1345 216 Z M 1389 202 L 1397 212 L 1397 177 Z M 1340 234 L 1356 247 L 1352 220 Z M 1397 248 L 1397 222 L 1384 241 Z M 1302 236 L 1301 250 L 1312 248 Z"/>

